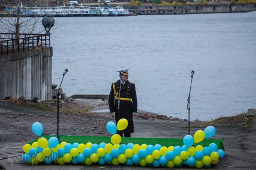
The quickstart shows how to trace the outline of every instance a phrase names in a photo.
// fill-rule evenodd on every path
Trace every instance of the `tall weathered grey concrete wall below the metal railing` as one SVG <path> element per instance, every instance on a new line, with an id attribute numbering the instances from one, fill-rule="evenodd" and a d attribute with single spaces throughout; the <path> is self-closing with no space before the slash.
<path id="1" fill-rule="evenodd" d="M 0 98 L 52 99 L 52 47 L 0 56 Z"/>

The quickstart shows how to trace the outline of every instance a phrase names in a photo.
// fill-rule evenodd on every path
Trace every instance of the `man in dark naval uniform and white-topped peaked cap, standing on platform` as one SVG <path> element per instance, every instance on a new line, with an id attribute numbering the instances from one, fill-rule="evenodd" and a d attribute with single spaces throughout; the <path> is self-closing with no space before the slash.
<path id="1" fill-rule="evenodd" d="M 129 69 L 118 71 L 120 80 L 112 82 L 108 101 L 110 113 L 115 112 L 115 122 L 118 123 L 121 118 L 125 118 L 128 121 L 127 128 L 122 131 L 118 131 L 118 134 L 120 134 L 121 137 L 131 137 L 131 133 L 134 132 L 133 113 L 137 113 L 137 96 L 135 84 L 131 81 L 128 81 L 128 70 Z M 120 113 L 118 113 L 119 99 Z"/>

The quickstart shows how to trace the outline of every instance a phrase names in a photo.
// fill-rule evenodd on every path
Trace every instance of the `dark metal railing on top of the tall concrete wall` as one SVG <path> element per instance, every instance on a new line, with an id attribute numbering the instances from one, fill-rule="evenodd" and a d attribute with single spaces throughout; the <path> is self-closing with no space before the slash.
<path id="1" fill-rule="evenodd" d="M 50 34 L 19 34 L 19 36 L 24 36 L 19 39 L 8 38 L 8 36 L 14 36 L 12 33 L 0 33 L 0 36 L 3 39 L 3 41 L 0 41 L 0 55 L 40 50 L 51 46 Z"/>

